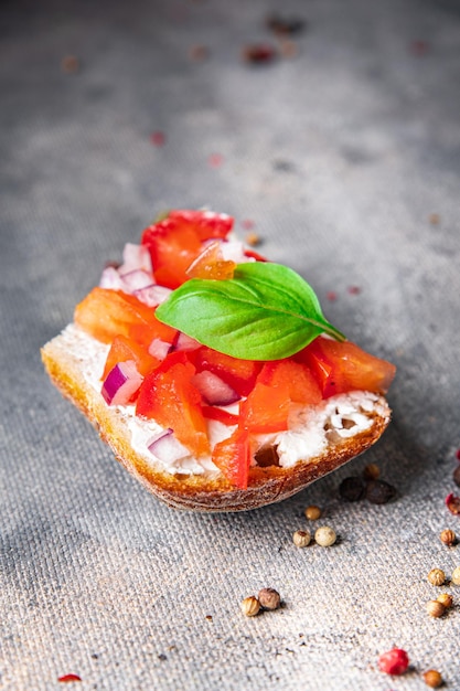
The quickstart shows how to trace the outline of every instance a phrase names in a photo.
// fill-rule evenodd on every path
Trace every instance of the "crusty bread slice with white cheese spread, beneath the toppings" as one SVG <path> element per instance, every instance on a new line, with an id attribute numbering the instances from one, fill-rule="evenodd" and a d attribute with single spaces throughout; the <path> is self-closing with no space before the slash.
<path id="1" fill-rule="evenodd" d="M 246 511 L 281 501 L 368 449 L 389 423 L 384 396 L 352 392 L 333 396 L 298 416 L 302 425 L 291 433 L 258 439 L 265 448 L 285 448 L 279 464 L 256 461 L 245 490 L 236 489 L 207 461 L 188 459 L 165 468 L 138 443 L 159 430 L 139 421 L 133 410 L 109 406 L 100 395 L 100 374 L 107 347 L 71 325 L 42 349 L 45 369 L 61 391 L 88 418 L 121 465 L 167 504 L 193 511 Z M 289 436 L 291 435 L 291 436 Z M 293 436 L 292 436 L 293 435 Z M 303 446 L 302 446 L 303 443 Z M 304 449 L 300 459 L 290 446 Z M 299 451 L 297 451 L 298 454 Z M 265 455 L 267 457 L 267 455 Z"/>

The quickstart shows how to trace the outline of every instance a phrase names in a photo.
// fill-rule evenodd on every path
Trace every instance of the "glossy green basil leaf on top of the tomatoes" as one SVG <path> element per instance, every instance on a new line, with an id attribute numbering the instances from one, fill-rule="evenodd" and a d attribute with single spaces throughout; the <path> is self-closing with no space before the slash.
<path id="1" fill-rule="evenodd" d="M 246 360 L 288 358 L 322 332 L 344 340 L 309 284 L 268 262 L 238 264 L 227 280 L 192 278 L 156 315 L 200 343 Z"/>

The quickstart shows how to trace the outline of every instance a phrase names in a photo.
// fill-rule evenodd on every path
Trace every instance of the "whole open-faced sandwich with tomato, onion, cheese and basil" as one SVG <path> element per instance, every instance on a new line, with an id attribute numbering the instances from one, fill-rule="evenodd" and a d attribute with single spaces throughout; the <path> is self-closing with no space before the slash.
<path id="1" fill-rule="evenodd" d="M 345 340 L 311 287 L 232 226 L 225 214 L 170 212 L 42 349 L 125 468 L 195 511 L 286 499 L 389 422 L 395 366 Z"/>

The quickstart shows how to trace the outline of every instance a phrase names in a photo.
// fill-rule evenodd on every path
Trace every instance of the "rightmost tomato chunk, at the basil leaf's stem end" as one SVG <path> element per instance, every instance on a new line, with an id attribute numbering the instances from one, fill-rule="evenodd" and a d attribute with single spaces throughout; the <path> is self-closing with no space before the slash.
<path id="1" fill-rule="evenodd" d="M 323 337 L 314 339 L 296 359 L 311 368 L 324 398 L 354 390 L 386 393 L 396 373 L 394 364 L 355 343 Z"/>

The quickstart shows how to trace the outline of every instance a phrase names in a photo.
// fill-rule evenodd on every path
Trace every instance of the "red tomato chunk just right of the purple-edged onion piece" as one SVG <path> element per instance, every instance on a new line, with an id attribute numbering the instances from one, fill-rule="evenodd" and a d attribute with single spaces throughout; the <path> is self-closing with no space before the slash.
<path id="1" fill-rule="evenodd" d="M 175 437 L 195 456 L 210 453 L 201 395 L 192 384 L 195 368 L 184 352 L 174 352 L 143 380 L 136 414 L 170 427 Z"/>

